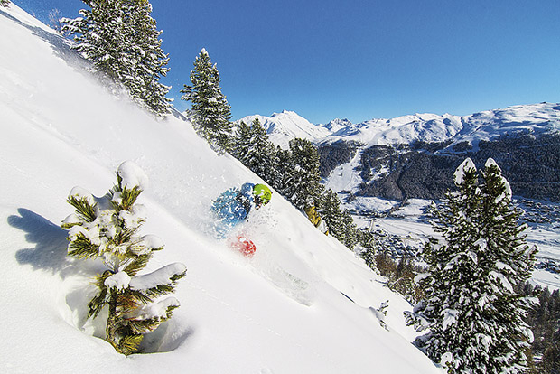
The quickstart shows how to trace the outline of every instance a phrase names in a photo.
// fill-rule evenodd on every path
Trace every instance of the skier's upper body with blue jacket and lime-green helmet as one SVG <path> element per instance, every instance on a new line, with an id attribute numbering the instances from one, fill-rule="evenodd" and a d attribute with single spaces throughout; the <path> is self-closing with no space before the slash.
<path id="1" fill-rule="evenodd" d="M 215 229 L 218 238 L 227 238 L 232 229 L 247 220 L 253 207 L 259 209 L 266 205 L 271 196 L 270 189 L 260 183 L 244 183 L 241 189 L 231 188 L 220 194 L 211 208 L 217 218 Z"/>

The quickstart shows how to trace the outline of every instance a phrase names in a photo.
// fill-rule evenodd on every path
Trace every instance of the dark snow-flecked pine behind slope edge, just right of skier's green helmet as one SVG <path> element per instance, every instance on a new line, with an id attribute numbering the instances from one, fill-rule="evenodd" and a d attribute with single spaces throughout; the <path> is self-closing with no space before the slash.
<path id="1" fill-rule="evenodd" d="M 290 140 L 290 156 L 294 171 L 292 181 L 286 186 L 285 197 L 300 210 L 305 210 L 320 200 L 323 190 L 319 153 L 309 140 L 296 137 Z"/>

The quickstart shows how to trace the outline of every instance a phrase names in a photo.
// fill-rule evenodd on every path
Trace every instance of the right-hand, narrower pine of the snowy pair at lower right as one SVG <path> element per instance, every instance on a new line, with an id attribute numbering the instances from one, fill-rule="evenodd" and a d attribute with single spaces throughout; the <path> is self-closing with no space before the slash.
<path id="1" fill-rule="evenodd" d="M 498 164 L 488 159 L 481 176 L 481 236 L 490 254 L 490 279 L 496 290 L 499 323 L 499 332 L 493 337 L 495 353 L 490 364 L 495 372 L 524 372 L 532 342 L 532 333 L 525 321 L 532 302 L 518 295 L 515 288 L 530 277 L 537 248 L 527 245 L 527 235 L 523 234 L 526 226 L 518 223 L 521 212 L 511 206 L 509 182 L 502 176 Z"/>

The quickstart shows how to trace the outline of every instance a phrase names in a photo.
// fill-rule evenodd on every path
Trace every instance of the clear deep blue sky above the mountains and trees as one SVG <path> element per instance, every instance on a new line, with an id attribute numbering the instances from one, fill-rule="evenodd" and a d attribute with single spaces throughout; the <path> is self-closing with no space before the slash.
<path id="1" fill-rule="evenodd" d="M 79 0 L 14 0 L 48 22 Z M 152 0 L 180 100 L 206 48 L 234 119 L 315 124 L 560 101 L 559 0 Z"/>

